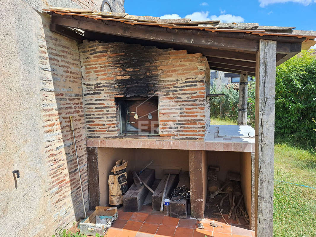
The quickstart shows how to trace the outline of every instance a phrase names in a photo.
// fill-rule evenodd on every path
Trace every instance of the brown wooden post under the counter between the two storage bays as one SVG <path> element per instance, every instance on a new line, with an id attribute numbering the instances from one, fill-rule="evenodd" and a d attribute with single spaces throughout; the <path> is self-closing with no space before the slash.
<path id="1" fill-rule="evenodd" d="M 207 156 L 206 151 L 189 150 L 191 216 L 204 218 L 207 196 Z"/>

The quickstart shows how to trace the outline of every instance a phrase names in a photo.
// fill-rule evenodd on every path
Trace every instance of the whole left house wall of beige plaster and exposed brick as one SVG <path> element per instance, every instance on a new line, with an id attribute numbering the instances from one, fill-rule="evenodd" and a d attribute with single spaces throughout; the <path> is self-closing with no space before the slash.
<path id="1" fill-rule="evenodd" d="M 88 208 L 85 128 L 76 41 L 49 31 L 49 6 L 100 9 L 101 0 L 3 1 L 0 9 L 0 235 L 52 236 Z M 115 0 L 124 12 L 123 0 Z M 115 5 L 114 4 L 114 5 Z M 9 16 L 9 17 L 8 17 Z M 20 170 L 20 178 L 12 174 Z"/>

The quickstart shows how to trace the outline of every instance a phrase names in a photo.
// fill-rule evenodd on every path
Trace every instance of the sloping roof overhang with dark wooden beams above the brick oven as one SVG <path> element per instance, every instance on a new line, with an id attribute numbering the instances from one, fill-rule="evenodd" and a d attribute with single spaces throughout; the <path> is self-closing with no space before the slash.
<path id="1" fill-rule="evenodd" d="M 161 22 L 108 18 L 100 15 L 58 12 L 52 15 L 50 30 L 82 42 L 84 39 L 121 42 L 187 50 L 206 56 L 210 69 L 255 76 L 259 40 L 274 40 L 276 65 L 301 52 L 302 42 L 316 35 L 266 32 L 252 29 L 217 29 L 212 25 L 175 25 Z M 126 17 L 126 16 L 125 16 Z M 80 29 L 84 33 L 78 33 Z M 293 31 L 292 31 L 293 32 Z"/>

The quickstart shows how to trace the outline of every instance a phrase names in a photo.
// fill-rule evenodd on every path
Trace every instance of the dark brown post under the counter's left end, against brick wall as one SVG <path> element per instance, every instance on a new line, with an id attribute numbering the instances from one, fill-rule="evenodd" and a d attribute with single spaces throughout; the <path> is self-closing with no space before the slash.
<path id="1" fill-rule="evenodd" d="M 98 148 L 87 147 L 89 209 L 100 206 Z"/>

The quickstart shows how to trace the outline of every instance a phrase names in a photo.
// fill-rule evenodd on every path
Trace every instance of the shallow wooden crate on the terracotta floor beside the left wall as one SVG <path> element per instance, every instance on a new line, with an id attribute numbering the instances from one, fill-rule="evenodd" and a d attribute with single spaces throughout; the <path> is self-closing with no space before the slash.
<path id="1" fill-rule="evenodd" d="M 106 224 L 96 224 L 96 216 L 112 216 L 112 218 Z M 88 216 L 86 220 L 80 222 L 80 233 L 93 236 L 99 234 L 100 236 L 103 236 L 117 218 L 118 210 L 116 207 L 97 206 L 95 207 L 95 211 Z"/>

